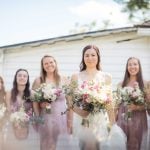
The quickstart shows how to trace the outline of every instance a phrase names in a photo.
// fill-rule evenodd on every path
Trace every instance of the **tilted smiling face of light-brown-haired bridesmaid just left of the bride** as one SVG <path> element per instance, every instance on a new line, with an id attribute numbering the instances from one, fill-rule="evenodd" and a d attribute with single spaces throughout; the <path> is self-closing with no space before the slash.
<path id="1" fill-rule="evenodd" d="M 48 73 L 52 73 L 55 71 L 56 63 L 52 57 L 45 57 L 43 59 L 43 68 Z"/>

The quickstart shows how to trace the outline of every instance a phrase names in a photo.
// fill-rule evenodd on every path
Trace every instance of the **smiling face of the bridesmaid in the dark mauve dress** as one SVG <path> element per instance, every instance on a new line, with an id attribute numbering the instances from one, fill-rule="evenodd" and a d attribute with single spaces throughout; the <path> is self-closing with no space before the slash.
<path id="1" fill-rule="evenodd" d="M 130 76 L 136 76 L 139 72 L 139 63 L 138 60 L 135 58 L 132 58 L 128 61 L 128 72 Z"/>

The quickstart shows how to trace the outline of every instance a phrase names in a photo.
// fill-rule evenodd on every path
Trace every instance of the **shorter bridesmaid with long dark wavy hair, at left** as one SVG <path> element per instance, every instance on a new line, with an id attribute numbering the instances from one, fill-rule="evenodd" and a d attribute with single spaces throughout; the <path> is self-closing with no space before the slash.
<path id="1" fill-rule="evenodd" d="M 7 124 L 7 134 L 5 135 L 4 150 L 15 149 L 36 149 L 38 145 L 37 135 L 34 132 L 29 120 L 16 122 L 11 120 L 14 113 L 22 110 L 29 117 L 32 116 L 32 102 L 29 99 L 30 92 L 29 74 L 26 69 L 18 69 L 14 76 L 13 88 L 6 93 L 7 110 L 10 113 L 10 121 Z M 19 117 L 19 116 L 18 116 Z M 8 142 L 9 141 L 9 142 Z M 28 144 L 30 143 L 30 144 Z"/>

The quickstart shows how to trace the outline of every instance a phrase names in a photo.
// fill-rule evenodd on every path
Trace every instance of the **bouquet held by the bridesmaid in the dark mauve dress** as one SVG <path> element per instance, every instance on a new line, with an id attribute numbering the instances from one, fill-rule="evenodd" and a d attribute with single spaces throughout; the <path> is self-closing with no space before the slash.
<path id="1" fill-rule="evenodd" d="M 137 82 L 134 83 L 133 87 L 124 87 L 119 90 L 121 102 L 125 106 L 134 104 L 138 106 L 145 105 L 144 92 L 139 88 Z M 125 119 L 131 119 L 132 111 L 128 109 L 127 114 L 125 114 Z"/>

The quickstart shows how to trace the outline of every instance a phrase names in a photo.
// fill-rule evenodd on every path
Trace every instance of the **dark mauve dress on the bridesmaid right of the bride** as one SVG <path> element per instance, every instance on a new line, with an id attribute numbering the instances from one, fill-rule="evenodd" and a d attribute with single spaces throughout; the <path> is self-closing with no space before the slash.
<path id="1" fill-rule="evenodd" d="M 121 103 L 118 110 L 117 124 L 127 136 L 127 150 L 148 150 L 148 127 L 146 110 L 132 111 L 131 119 L 125 119 L 128 109 Z"/>

